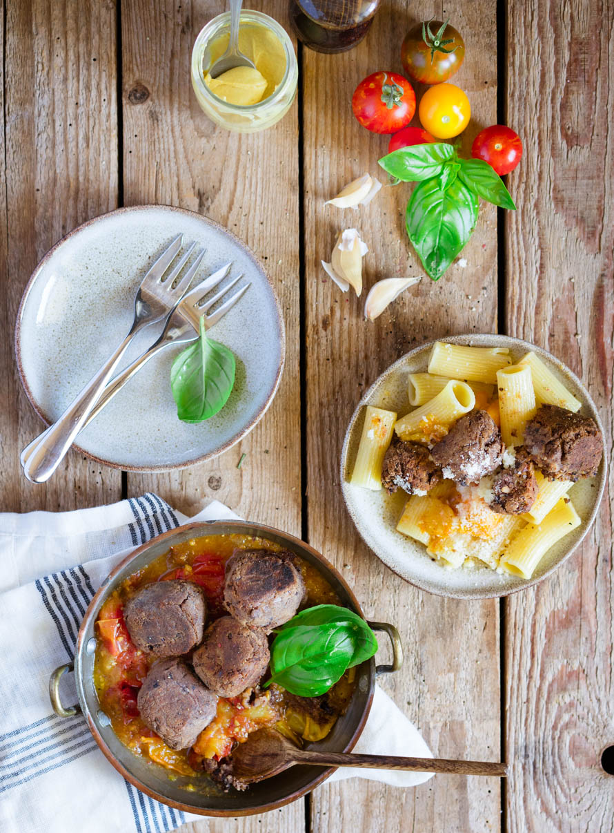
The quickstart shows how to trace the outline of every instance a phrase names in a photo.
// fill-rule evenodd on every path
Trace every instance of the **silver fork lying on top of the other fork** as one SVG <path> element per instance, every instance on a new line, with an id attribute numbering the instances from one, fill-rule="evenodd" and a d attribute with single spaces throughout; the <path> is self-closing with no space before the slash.
<path id="1" fill-rule="evenodd" d="M 52 476 L 68 449 L 72 446 L 75 437 L 85 425 L 87 417 L 101 397 L 107 382 L 109 382 L 117 364 L 121 361 L 121 357 L 136 333 L 140 332 L 143 327 L 161 321 L 181 301 L 181 297 L 190 286 L 194 272 L 189 274 L 189 270 L 177 282 L 176 286 L 174 286 L 174 283 L 194 251 L 196 243 L 192 243 L 191 247 L 187 249 L 172 272 L 166 277 L 166 280 L 163 280 L 163 278 L 171 263 L 176 260 L 177 255 L 181 252 L 182 246 L 183 235 L 178 234 L 141 281 L 141 286 L 136 291 L 134 321 L 121 344 L 116 347 L 111 357 L 71 402 L 62 416 L 22 452 L 23 471 L 28 480 L 33 483 L 43 483 Z M 201 259 L 204 253 L 202 252 Z M 27 456 L 26 451 L 28 452 Z"/>

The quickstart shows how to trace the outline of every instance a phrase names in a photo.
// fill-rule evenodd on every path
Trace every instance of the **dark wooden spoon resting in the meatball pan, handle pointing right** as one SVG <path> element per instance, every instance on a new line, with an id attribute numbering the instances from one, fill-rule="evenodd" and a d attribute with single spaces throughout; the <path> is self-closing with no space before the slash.
<path id="1" fill-rule="evenodd" d="M 485 761 L 448 761 L 443 758 L 402 758 L 393 755 L 350 755 L 348 752 L 316 752 L 297 747 L 274 729 L 259 729 L 232 753 L 233 775 L 245 784 L 276 776 L 295 764 L 314 766 L 367 766 L 376 770 L 448 772 L 465 776 L 508 774 L 507 764 Z"/>

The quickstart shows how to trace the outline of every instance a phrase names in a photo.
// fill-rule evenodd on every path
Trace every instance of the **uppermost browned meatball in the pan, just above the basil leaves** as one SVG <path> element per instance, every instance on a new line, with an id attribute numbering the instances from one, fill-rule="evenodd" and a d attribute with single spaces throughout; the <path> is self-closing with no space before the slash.
<path id="1" fill-rule="evenodd" d="M 237 550 L 226 561 L 224 604 L 244 625 L 267 633 L 299 609 L 305 583 L 291 552 Z"/>

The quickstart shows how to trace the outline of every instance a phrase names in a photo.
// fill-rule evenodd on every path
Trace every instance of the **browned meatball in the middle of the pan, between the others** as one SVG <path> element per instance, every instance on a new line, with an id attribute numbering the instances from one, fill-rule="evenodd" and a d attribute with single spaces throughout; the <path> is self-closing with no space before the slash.
<path id="1" fill-rule="evenodd" d="M 196 674 L 220 697 L 236 697 L 255 686 L 269 661 L 265 631 L 243 625 L 233 616 L 213 622 L 192 656 Z"/>

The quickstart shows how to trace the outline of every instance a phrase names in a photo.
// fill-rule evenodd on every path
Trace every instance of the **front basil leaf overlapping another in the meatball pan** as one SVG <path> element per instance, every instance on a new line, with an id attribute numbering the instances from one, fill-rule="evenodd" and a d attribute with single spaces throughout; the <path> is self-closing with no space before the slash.
<path id="1" fill-rule="evenodd" d="M 354 641 L 343 622 L 298 626 L 275 637 L 271 682 L 300 697 L 324 694 L 343 675 L 354 656 Z"/>

